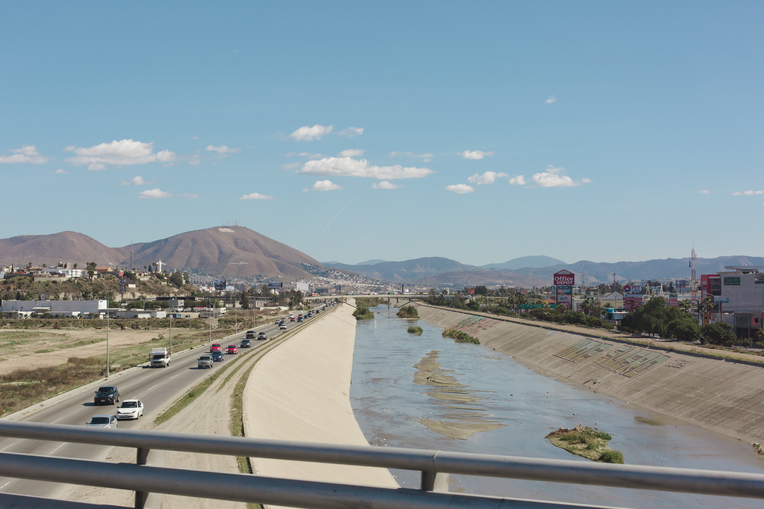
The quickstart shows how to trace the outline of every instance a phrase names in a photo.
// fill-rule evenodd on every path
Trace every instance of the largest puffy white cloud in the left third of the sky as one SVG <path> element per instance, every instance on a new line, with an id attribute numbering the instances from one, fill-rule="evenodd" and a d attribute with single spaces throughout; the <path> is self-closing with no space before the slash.
<path id="1" fill-rule="evenodd" d="M 88 170 L 104 169 L 107 164 L 115 166 L 130 166 L 144 163 L 171 163 L 176 160 L 175 153 L 170 150 L 160 150 L 154 153 L 154 142 L 142 143 L 134 140 L 114 140 L 112 143 L 101 143 L 93 147 L 66 147 L 67 152 L 76 156 L 66 159 L 75 166 L 88 165 Z"/>

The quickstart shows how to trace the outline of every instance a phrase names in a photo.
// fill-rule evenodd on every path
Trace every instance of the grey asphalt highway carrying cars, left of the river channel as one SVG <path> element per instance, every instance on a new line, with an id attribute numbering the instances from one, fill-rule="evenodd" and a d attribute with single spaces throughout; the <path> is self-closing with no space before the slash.
<path id="1" fill-rule="evenodd" d="M 299 311 L 295 311 L 295 316 L 298 313 Z M 309 320 L 312 319 L 313 318 Z M 280 333 L 287 332 L 296 325 L 296 322 L 290 322 L 287 319 L 286 330 L 279 330 L 278 325 L 273 322 L 260 325 L 254 328 L 254 330 L 257 333 L 264 331 L 270 340 L 277 337 Z M 240 341 L 244 339 L 247 330 L 252 330 L 252 328 L 244 328 L 241 332 L 237 333 L 235 337 L 231 337 L 225 341 L 216 340 L 213 341 L 213 343 L 221 343 L 223 351 L 225 351 L 225 346 L 228 346 L 228 344 L 240 343 Z M 254 349 L 261 344 L 267 344 L 267 341 L 254 340 L 252 343 Z M 225 360 L 222 362 L 215 362 L 215 367 L 212 370 L 197 369 L 196 360 L 199 359 L 199 356 L 209 352 L 209 343 L 207 344 L 207 348 L 196 348 L 194 350 L 189 350 L 188 352 L 173 355 L 170 366 L 167 368 L 144 367 L 144 369 L 136 369 L 132 372 L 117 373 L 112 375 L 108 382 L 104 382 L 103 385 L 116 385 L 118 387 L 121 401 L 124 401 L 125 399 L 140 399 L 144 404 L 143 417 L 139 417 L 137 420 L 121 420 L 119 421 L 118 427 L 140 428 L 143 424 L 151 422 L 151 420 L 154 420 L 154 418 L 157 417 L 157 414 L 163 411 L 164 408 L 167 408 L 169 404 L 172 404 L 173 401 L 188 391 L 189 388 L 192 388 L 209 375 L 210 371 L 214 372 L 214 369 L 220 369 L 226 362 L 231 362 L 231 358 L 234 357 L 234 355 L 225 355 Z M 150 346 L 147 345 L 146 348 L 146 355 L 148 356 Z M 239 351 L 243 353 L 246 350 L 247 349 L 240 349 Z M 86 420 L 89 420 L 93 415 L 113 415 L 117 413 L 116 408 L 118 405 L 95 406 L 93 404 L 93 395 L 92 392 L 83 393 L 70 398 L 67 401 L 53 404 L 50 408 L 37 411 L 35 414 L 22 420 L 84 426 Z M 228 433 L 227 427 L 225 427 L 225 430 L 222 430 L 222 432 Z M 27 453 L 38 454 L 41 456 L 50 455 L 66 458 L 105 460 L 109 459 L 107 456 L 109 450 L 111 450 L 111 447 L 109 446 L 0 438 L 0 452 L 8 453 Z M 0 491 L 5 493 L 15 493 L 17 495 L 61 498 L 66 495 L 66 490 L 68 488 L 70 488 L 70 485 L 59 483 L 0 478 Z"/>

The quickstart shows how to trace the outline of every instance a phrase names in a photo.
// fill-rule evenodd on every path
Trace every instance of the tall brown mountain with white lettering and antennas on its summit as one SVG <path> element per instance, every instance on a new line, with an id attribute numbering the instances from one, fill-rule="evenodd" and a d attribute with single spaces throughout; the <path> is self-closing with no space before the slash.
<path id="1" fill-rule="evenodd" d="M 215 275 L 286 275 L 312 279 L 300 264 L 321 265 L 305 253 L 241 226 L 188 231 L 136 247 L 134 266 L 142 267 L 161 259 L 170 269 L 193 268 Z"/>

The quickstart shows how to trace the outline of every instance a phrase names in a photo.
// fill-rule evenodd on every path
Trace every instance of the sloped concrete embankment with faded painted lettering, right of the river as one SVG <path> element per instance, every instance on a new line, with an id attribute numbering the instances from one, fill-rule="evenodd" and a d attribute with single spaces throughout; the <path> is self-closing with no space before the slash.
<path id="1" fill-rule="evenodd" d="M 549 375 L 729 437 L 764 438 L 764 368 L 585 333 L 548 330 L 417 306 L 422 319 L 455 327 Z"/>

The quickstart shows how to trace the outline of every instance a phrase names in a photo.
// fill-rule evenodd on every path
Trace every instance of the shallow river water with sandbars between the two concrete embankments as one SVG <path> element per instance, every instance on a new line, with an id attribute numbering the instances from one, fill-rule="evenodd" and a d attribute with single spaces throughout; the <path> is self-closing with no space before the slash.
<path id="1" fill-rule="evenodd" d="M 424 320 L 397 319 L 396 308 L 372 311 L 375 320 L 358 322 L 350 396 L 374 446 L 587 462 L 544 437 L 596 423 L 627 464 L 764 473 L 764 457 L 748 443 L 542 375 L 487 346 L 456 343 Z M 406 332 L 410 325 L 422 334 Z M 392 472 L 403 487 L 419 488 L 419 472 Z M 451 490 L 617 507 L 762 507 L 749 498 L 468 475 L 452 475 Z"/>

